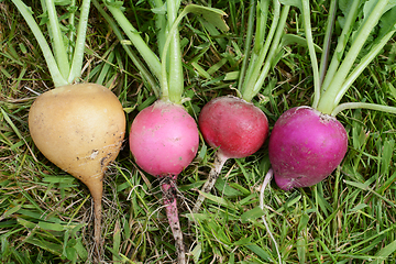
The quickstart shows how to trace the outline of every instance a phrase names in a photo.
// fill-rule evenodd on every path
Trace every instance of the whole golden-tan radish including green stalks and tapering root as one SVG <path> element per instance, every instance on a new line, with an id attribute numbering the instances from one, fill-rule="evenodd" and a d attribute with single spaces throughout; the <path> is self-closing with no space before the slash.
<path id="1" fill-rule="evenodd" d="M 42 1 L 43 11 L 48 15 L 54 53 L 30 8 L 21 0 L 12 1 L 34 33 L 55 84 L 55 89 L 33 102 L 29 113 L 30 133 L 45 157 L 89 188 L 95 205 L 94 240 L 99 262 L 102 182 L 107 166 L 121 150 L 125 117 L 120 101 L 108 88 L 97 84 L 74 85 L 81 75 L 90 1 L 81 3 L 77 37 L 69 32 L 69 46 L 65 46 L 66 35 L 61 31 L 55 2 Z M 73 3 L 70 8 L 75 8 Z M 74 14 L 70 29 L 73 21 Z"/>

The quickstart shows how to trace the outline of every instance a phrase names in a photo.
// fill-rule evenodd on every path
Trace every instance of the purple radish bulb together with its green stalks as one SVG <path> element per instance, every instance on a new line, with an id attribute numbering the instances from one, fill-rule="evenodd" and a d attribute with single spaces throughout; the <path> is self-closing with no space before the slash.
<path id="1" fill-rule="evenodd" d="M 274 178 L 279 188 L 284 190 L 316 185 L 329 176 L 342 162 L 348 148 L 348 134 L 343 125 L 336 119 L 340 111 L 367 108 L 396 112 L 396 108 L 373 103 L 345 102 L 339 105 L 353 81 L 396 31 L 395 3 L 380 0 L 375 4 L 366 2 L 364 9 L 361 9 L 360 6 L 361 1 L 359 0 L 351 1 L 349 9 L 342 9 L 343 7 L 340 6 L 345 15 L 344 24 L 331 63 L 327 68 L 328 43 L 337 12 L 337 2 L 331 1 L 326 33 L 327 41 L 319 69 L 309 22 L 309 2 L 308 0 L 301 1 L 299 8 L 302 10 L 305 32 L 314 67 L 315 97 L 311 108 L 293 108 L 283 113 L 275 123 L 270 138 L 268 152 Z M 363 19 L 359 22 L 359 29 L 354 31 L 358 18 Z M 367 37 L 378 23 L 386 26 L 382 26 L 376 38 L 366 44 L 370 46 L 370 51 L 351 70 Z M 352 33 L 354 33 L 353 37 L 350 37 Z M 374 37 L 374 35 L 372 36 Z M 345 51 L 346 44 L 350 44 L 349 51 Z"/>

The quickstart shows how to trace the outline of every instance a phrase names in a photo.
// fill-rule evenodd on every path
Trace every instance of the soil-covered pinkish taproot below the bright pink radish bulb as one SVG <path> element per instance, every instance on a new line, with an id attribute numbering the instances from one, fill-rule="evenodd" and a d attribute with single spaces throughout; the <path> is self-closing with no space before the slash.
<path id="1" fill-rule="evenodd" d="M 164 206 L 166 210 L 166 216 L 170 226 L 172 233 L 175 239 L 176 253 L 177 253 L 177 263 L 186 263 L 186 250 L 183 242 L 183 232 L 180 228 L 180 221 L 178 218 L 177 211 L 177 190 L 176 190 L 176 175 L 167 176 L 161 183 L 161 189 L 164 197 Z"/>

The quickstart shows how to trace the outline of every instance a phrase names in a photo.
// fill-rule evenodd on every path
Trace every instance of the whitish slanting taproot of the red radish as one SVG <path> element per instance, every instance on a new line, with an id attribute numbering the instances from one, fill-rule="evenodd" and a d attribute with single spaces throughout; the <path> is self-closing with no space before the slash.
<path id="1" fill-rule="evenodd" d="M 201 188 L 201 193 L 208 194 L 213 188 L 216 180 L 219 178 L 219 175 L 221 173 L 221 168 L 224 166 L 224 163 L 227 162 L 228 157 L 226 157 L 221 152 L 217 152 L 215 155 L 215 163 L 212 168 L 210 169 L 208 180 L 204 184 Z M 202 202 L 205 200 L 205 196 L 202 194 L 199 194 L 198 199 L 193 208 L 193 213 L 196 213 L 199 211 Z"/>

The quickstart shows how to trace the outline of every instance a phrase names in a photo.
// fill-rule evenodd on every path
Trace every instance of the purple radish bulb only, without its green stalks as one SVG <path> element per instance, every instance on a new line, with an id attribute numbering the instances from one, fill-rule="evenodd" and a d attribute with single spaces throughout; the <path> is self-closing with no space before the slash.
<path id="1" fill-rule="evenodd" d="M 334 117 L 297 107 L 276 121 L 268 148 L 275 182 L 289 190 L 316 185 L 330 175 L 346 153 L 348 135 Z"/>

